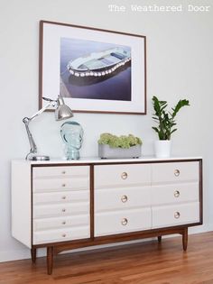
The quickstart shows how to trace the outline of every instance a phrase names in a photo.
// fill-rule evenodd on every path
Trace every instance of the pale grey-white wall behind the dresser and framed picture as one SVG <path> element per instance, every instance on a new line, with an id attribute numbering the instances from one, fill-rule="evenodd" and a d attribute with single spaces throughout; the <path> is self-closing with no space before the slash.
<path id="1" fill-rule="evenodd" d="M 211 0 L 193 4 L 211 5 Z M 108 11 L 109 4 L 126 5 L 125 13 Z M 153 154 L 153 95 L 174 105 L 190 99 L 181 111 L 179 131 L 173 135 L 173 154 L 201 155 L 204 158 L 204 220 L 207 231 L 213 224 L 213 6 L 209 13 L 133 13 L 131 4 L 180 5 L 190 0 L 1 0 L 0 1 L 0 261 L 29 257 L 29 251 L 11 236 L 10 162 L 24 158 L 29 144 L 23 116 L 38 109 L 39 21 L 72 23 L 147 36 L 148 115 L 77 114 L 85 141 L 81 156 L 97 156 L 99 133 L 134 133 L 144 141 L 143 154 Z M 62 155 L 61 123 L 52 114 L 41 115 L 31 125 L 39 147 L 51 156 Z M 24 197 L 23 197 L 24 199 Z M 20 205 L 22 206 L 22 205 Z M 21 230 L 22 228 L 20 228 Z"/>

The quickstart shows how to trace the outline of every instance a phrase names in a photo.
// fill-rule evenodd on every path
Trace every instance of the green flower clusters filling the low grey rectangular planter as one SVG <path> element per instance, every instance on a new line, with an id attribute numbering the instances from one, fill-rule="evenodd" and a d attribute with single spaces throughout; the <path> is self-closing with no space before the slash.
<path id="1" fill-rule="evenodd" d="M 111 133 L 102 133 L 98 139 L 98 144 L 106 144 L 112 148 L 128 149 L 135 145 L 142 145 L 142 140 L 133 134 L 116 136 Z"/>

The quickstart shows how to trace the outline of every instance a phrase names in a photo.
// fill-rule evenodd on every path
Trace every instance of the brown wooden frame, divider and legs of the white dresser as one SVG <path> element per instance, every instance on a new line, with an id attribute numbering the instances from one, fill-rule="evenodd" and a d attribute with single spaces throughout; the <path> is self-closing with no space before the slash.
<path id="1" fill-rule="evenodd" d="M 95 180 L 94 180 L 94 166 L 97 165 L 119 165 L 119 164 L 145 164 L 145 163 L 170 163 L 170 162 L 194 162 L 199 161 L 199 222 L 191 223 L 191 224 L 181 224 L 181 225 L 175 225 L 170 227 L 162 227 L 160 229 L 149 229 L 139 232 L 132 232 L 132 233 L 125 233 L 125 234 L 112 234 L 112 235 L 106 235 L 106 236 L 98 236 L 95 237 L 95 222 L 94 222 L 94 212 L 95 212 L 95 200 L 94 200 L 94 188 L 95 188 Z M 156 160 L 156 161 L 124 161 L 124 162 L 105 162 L 101 163 L 99 161 L 97 162 L 91 162 L 91 163 L 52 163 L 52 164 L 32 164 L 31 166 L 31 198 L 32 196 L 32 176 L 33 176 L 33 168 L 37 167 L 67 167 L 67 166 L 89 166 L 89 187 L 90 187 L 90 207 L 89 207 L 89 213 L 90 213 L 90 237 L 87 239 L 81 239 L 81 240 L 75 240 L 75 241 L 67 241 L 67 242 L 60 242 L 60 243 L 42 243 L 42 244 L 32 244 L 32 262 L 36 261 L 36 249 L 45 247 L 47 248 L 47 272 L 48 274 L 52 273 L 52 267 L 53 267 L 53 257 L 54 255 L 67 251 L 70 249 L 77 249 L 87 246 L 93 246 L 93 245 L 103 245 L 107 243 L 119 243 L 119 242 L 128 242 L 131 240 L 140 240 L 144 238 L 150 238 L 150 237 L 157 237 L 158 242 L 162 242 L 162 235 L 167 234 L 181 234 L 182 236 L 182 248 L 183 251 L 187 250 L 187 244 L 188 244 L 188 227 L 202 224 L 203 220 L 203 206 L 202 206 L 202 160 L 201 159 L 194 159 L 194 160 Z M 33 205 L 33 200 L 31 200 Z M 31 220 L 33 218 L 33 208 L 31 208 Z M 33 224 L 32 224 L 33 225 Z M 33 227 L 31 227 L 31 231 L 33 232 Z M 33 234 L 32 234 L 33 236 Z M 33 240 L 32 240 L 33 243 Z"/>

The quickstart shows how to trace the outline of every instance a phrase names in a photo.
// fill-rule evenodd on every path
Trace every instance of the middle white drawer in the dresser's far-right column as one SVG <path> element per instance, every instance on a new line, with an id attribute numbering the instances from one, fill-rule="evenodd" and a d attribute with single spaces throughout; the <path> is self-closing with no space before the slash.
<path id="1" fill-rule="evenodd" d="M 152 187 L 152 205 L 199 201 L 199 182 Z"/>

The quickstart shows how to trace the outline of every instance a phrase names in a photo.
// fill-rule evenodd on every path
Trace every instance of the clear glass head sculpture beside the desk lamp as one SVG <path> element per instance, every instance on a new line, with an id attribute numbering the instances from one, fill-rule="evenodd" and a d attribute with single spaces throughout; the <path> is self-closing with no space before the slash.
<path id="1" fill-rule="evenodd" d="M 83 134 L 83 128 L 77 122 L 66 122 L 60 126 L 60 135 L 66 144 L 67 160 L 79 160 Z"/>

